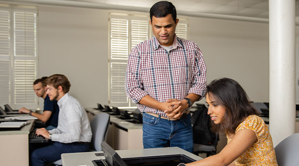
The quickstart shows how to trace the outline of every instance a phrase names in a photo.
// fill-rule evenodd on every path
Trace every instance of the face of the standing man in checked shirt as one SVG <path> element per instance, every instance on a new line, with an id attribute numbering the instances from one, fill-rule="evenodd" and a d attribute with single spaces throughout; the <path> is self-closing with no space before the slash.
<path id="1" fill-rule="evenodd" d="M 152 16 L 151 21 L 149 21 L 153 35 L 163 46 L 172 45 L 177 22 L 178 19 L 176 19 L 176 22 L 174 22 L 171 14 L 160 18 Z"/>

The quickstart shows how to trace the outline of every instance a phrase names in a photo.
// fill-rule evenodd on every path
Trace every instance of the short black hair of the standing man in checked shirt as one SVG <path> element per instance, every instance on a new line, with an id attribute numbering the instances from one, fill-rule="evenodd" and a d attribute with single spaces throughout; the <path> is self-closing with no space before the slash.
<path id="1" fill-rule="evenodd" d="M 152 21 L 152 16 L 160 18 L 165 17 L 168 14 L 171 14 L 172 19 L 174 20 L 174 22 L 176 22 L 175 6 L 171 2 L 166 0 L 154 3 L 149 10 L 150 21 Z"/>

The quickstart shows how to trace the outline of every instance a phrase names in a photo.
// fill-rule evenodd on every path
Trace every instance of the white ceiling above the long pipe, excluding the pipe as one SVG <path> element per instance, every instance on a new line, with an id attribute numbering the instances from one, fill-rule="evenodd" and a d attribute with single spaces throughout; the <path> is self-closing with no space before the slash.
<path id="1" fill-rule="evenodd" d="M 72 0 L 150 8 L 158 0 Z M 176 10 L 269 18 L 269 0 L 169 0 Z M 298 6 L 299 0 L 296 0 Z M 296 7 L 299 9 L 299 6 Z M 299 15 L 299 12 L 296 12 Z"/>

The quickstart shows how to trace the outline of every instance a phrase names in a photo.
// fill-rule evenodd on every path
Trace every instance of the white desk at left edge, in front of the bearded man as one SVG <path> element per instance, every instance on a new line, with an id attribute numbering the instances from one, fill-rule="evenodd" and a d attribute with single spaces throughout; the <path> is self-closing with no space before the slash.
<path id="1" fill-rule="evenodd" d="M 28 166 L 28 134 L 34 120 L 18 131 L 0 131 L 0 166 Z"/>

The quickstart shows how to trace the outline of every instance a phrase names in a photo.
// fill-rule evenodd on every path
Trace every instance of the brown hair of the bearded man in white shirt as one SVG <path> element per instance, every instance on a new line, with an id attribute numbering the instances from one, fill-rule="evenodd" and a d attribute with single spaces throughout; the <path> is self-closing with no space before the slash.
<path id="1" fill-rule="evenodd" d="M 52 85 L 55 89 L 58 89 L 58 86 L 62 87 L 64 93 L 69 92 L 71 88 L 71 83 L 65 75 L 62 74 L 53 74 L 48 77 L 45 81 L 46 85 Z"/>

